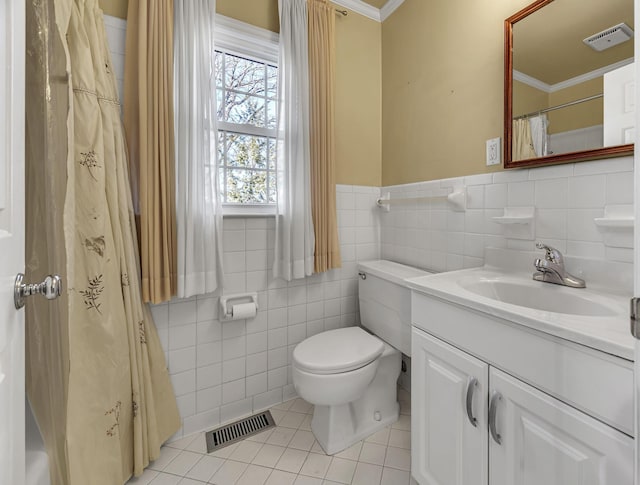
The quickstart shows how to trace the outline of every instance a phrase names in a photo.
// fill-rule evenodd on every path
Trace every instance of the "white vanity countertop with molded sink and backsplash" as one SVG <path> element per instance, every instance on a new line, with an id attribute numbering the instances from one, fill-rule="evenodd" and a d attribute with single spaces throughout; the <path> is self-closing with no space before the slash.
<path id="1" fill-rule="evenodd" d="M 587 281 L 587 288 L 568 288 L 532 279 L 532 261 L 539 256 L 487 248 L 484 266 L 411 278 L 406 284 L 414 294 L 440 302 L 434 303 L 429 315 L 434 322 L 442 318 L 436 311 L 439 305 L 448 302 L 458 307 L 461 319 L 469 317 L 463 313 L 469 309 L 480 318 L 506 325 L 495 327 L 497 338 L 502 328 L 522 325 L 633 361 L 636 340 L 629 333 L 633 267 L 567 257 L 572 272 Z M 416 306 L 419 298 L 412 301 L 416 302 L 412 311 L 426 311 Z M 430 328 L 426 325 L 423 330 Z"/>

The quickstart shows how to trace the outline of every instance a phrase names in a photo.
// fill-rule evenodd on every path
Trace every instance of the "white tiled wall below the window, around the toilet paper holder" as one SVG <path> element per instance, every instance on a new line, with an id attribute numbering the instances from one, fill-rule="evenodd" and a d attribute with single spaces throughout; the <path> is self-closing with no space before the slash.
<path id="1" fill-rule="evenodd" d="M 176 438 L 293 397 L 295 345 L 358 322 L 356 262 L 380 257 L 378 197 L 377 187 L 339 185 L 343 266 L 291 283 L 272 276 L 273 217 L 224 219 L 224 292 L 257 292 L 259 310 L 220 322 L 218 293 L 152 308 L 183 420 Z"/>

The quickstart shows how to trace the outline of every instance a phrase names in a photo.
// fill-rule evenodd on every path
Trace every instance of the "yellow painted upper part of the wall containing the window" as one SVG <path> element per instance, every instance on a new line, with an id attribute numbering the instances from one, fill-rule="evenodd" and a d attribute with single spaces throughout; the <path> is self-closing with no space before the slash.
<path id="1" fill-rule="evenodd" d="M 127 16 L 128 0 L 100 0 L 108 15 Z M 279 30 L 277 0 L 217 0 L 227 17 Z M 349 11 L 336 18 L 336 182 L 381 184 L 382 26 Z"/>

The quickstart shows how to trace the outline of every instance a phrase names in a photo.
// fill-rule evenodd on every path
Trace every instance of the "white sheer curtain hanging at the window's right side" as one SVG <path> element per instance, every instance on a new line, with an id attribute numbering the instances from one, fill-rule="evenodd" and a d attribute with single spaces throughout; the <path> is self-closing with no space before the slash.
<path id="1" fill-rule="evenodd" d="M 278 0 L 278 204 L 273 274 L 287 281 L 313 273 L 309 149 L 307 0 Z"/>

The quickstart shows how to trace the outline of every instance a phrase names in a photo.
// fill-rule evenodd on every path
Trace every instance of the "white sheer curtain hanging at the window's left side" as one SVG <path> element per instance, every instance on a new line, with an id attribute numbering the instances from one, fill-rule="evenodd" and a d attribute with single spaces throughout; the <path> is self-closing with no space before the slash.
<path id="1" fill-rule="evenodd" d="M 223 285 L 216 169 L 215 0 L 174 1 L 178 297 Z"/>

